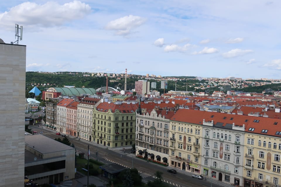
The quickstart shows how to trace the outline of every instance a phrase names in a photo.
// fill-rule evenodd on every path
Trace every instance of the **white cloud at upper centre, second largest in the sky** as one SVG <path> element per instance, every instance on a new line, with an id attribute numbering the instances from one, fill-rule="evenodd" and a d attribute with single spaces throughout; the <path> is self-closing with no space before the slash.
<path id="1" fill-rule="evenodd" d="M 126 36 L 131 33 L 131 30 L 139 27 L 145 21 L 146 19 L 140 16 L 129 15 L 110 21 L 105 26 L 105 29 L 116 30 L 116 35 Z"/>

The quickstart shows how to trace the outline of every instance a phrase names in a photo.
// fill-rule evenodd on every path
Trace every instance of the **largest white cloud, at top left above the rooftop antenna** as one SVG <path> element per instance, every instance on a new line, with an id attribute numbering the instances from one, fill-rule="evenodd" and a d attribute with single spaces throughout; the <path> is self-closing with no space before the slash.
<path id="1" fill-rule="evenodd" d="M 91 12 L 88 4 L 73 1 L 59 5 L 49 1 L 45 4 L 25 2 L 12 7 L 9 11 L 0 14 L 0 27 L 10 28 L 11 23 L 18 23 L 28 27 L 55 27 L 66 22 L 83 18 Z"/>

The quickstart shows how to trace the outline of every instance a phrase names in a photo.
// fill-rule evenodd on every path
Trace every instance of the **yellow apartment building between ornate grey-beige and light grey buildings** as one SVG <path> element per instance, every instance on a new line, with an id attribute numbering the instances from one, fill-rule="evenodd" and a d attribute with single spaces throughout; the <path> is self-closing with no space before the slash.
<path id="1" fill-rule="evenodd" d="M 191 111 L 191 110 L 190 110 Z M 190 121 L 188 109 L 178 109 L 170 120 L 169 165 L 201 174 L 202 126 Z"/>

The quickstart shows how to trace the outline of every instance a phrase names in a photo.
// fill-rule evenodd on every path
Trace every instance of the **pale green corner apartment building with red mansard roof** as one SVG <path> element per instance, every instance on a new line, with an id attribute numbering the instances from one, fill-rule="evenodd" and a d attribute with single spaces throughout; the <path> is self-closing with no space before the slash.
<path id="1" fill-rule="evenodd" d="M 93 141 L 106 147 L 125 147 L 135 143 L 136 104 L 101 102 L 94 110 Z"/>

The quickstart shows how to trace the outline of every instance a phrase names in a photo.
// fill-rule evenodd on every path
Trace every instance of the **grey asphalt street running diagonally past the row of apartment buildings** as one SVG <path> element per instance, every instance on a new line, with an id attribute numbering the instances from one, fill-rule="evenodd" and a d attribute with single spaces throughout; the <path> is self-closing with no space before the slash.
<path id="1" fill-rule="evenodd" d="M 42 125 L 40 127 L 30 125 L 29 128 L 40 132 L 43 132 L 44 136 L 47 136 L 49 138 L 55 139 L 55 138 L 62 138 L 61 135 L 56 135 L 56 131 L 45 129 Z M 66 135 L 67 136 L 67 135 Z M 88 144 L 90 145 L 90 158 L 97 159 L 100 162 L 103 162 L 104 164 L 109 164 L 113 162 L 117 162 L 121 165 L 127 166 L 127 167 L 135 167 L 140 171 L 140 175 L 143 177 L 144 181 L 154 180 L 154 176 L 156 171 L 162 172 L 162 177 L 164 180 L 169 181 L 170 183 L 177 184 L 177 186 L 181 187 L 207 187 L 211 186 L 211 183 L 208 181 L 194 179 L 190 175 L 183 174 L 178 172 L 177 174 L 172 174 L 167 172 L 167 169 L 171 169 L 171 167 L 164 167 L 157 164 L 154 164 L 152 162 L 147 162 L 145 160 L 136 158 L 133 154 L 130 153 L 131 149 L 124 149 L 121 150 L 110 150 L 106 149 L 103 146 L 99 147 L 96 146 L 93 143 L 89 143 L 85 140 L 78 140 L 75 137 L 68 137 L 69 141 L 71 143 L 74 143 L 74 146 L 78 153 L 87 153 L 88 152 Z M 97 153 L 97 156 L 96 156 Z M 122 157 L 121 157 L 122 155 Z M 212 184 L 212 187 L 220 187 L 217 184 Z"/>

